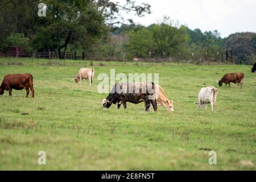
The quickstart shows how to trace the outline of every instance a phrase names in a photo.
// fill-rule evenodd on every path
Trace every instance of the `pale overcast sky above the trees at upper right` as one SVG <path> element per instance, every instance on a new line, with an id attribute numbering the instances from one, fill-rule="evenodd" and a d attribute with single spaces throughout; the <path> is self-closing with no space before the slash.
<path id="1" fill-rule="evenodd" d="M 167 15 L 191 29 L 218 30 L 222 38 L 234 32 L 256 32 L 256 0 L 136 0 L 141 2 L 151 5 L 152 14 L 137 18 L 131 13 L 125 18 L 148 26 Z"/>

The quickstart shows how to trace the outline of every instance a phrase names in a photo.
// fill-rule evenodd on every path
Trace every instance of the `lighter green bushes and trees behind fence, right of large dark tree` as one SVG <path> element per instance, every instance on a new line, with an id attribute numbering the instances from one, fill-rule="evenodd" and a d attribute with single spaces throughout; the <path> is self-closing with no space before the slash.
<path id="1" fill-rule="evenodd" d="M 100 46 L 106 60 L 205 61 L 252 64 L 255 61 L 256 34 L 232 34 L 222 39 L 218 31 L 202 32 L 172 23 L 121 26 Z M 105 53 L 102 56 L 102 53 Z M 125 55 L 124 55 L 125 54 Z"/>

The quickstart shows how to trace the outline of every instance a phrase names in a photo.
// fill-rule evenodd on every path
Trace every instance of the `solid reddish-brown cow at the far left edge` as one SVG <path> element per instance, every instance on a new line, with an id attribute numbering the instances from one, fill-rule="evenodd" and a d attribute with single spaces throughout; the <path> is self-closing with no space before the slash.
<path id="1" fill-rule="evenodd" d="M 5 90 L 9 90 L 9 96 L 12 96 L 11 90 L 22 90 L 26 89 L 27 95 L 32 92 L 32 97 L 35 95 L 35 91 L 33 88 L 33 76 L 31 74 L 14 74 L 14 75 L 6 75 L 3 78 L 2 84 L 0 86 L 0 95 L 2 95 Z"/>

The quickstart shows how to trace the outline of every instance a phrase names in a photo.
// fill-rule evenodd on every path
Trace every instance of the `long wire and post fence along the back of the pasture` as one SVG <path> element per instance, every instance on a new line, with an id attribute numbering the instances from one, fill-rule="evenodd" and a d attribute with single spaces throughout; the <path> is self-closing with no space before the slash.
<path id="1" fill-rule="evenodd" d="M 98 61 L 143 61 L 143 62 L 172 62 L 172 61 L 180 61 L 180 60 L 191 60 L 193 62 L 201 63 L 203 61 L 211 61 L 211 62 L 222 62 L 222 63 L 233 63 L 233 53 L 216 53 L 214 55 L 209 55 L 205 53 L 205 55 L 197 55 L 196 53 L 191 53 L 189 55 L 173 55 L 173 56 L 163 56 L 163 57 L 133 57 L 129 58 L 125 56 L 123 52 L 118 56 L 89 56 L 85 57 L 85 53 L 82 52 L 80 55 L 77 55 L 75 52 L 18 52 L 18 51 L 7 51 L 0 52 L 0 56 L 3 57 L 31 57 L 32 59 L 67 59 L 67 60 L 98 60 Z"/>

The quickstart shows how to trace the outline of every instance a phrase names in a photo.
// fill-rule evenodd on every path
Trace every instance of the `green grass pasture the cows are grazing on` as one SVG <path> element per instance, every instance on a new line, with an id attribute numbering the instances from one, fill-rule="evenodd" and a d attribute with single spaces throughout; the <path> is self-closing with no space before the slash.
<path id="1" fill-rule="evenodd" d="M 256 73 L 248 65 L 118 63 L 0 59 L 0 80 L 10 73 L 34 76 L 35 98 L 25 90 L 0 96 L 0 169 L 255 170 Z M 93 85 L 75 84 L 81 67 L 96 71 Z M 99 73 L 159 73 L 174 113 L 128 103 L 101 109 Z M 245 88 L 219 88 L 228 72 L 245 73 Z M 216 86 L 216 110 L 194 104 L 203 86 Z M 28 113 L 29 115 L 22 115 Z M 46 151 L 46 165 L 38 164 Z M 210 165 L 209 151 L 217 152 Z"/>

